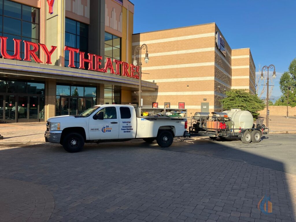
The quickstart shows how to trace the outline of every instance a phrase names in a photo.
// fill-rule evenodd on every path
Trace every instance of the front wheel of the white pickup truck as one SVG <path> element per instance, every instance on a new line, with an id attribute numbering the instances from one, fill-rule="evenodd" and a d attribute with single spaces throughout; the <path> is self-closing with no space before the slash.
<path id="1" fill-rule="evenodd" d="M 63 140 L 63 147 L 69 153 L 76 153 L 82 150 L 84 146 L 83 136 L 79 133 L 69 133 Z"/>

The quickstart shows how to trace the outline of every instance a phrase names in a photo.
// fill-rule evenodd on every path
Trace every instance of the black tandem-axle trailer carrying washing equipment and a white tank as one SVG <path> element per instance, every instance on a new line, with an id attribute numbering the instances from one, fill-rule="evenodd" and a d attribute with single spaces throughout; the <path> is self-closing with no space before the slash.
<path id="1" fill-rule="evenodd" d="M 252 114 L 240 109 L 212 112 L 211 115 L 209 112 L 196 112 L 189 126 L 189 137 L 209 136 L 210 139 L 217 139 L 237 136 L 243 143 L 258 143 L 263 134 L 268 134 L 268 128 L 256 127 Z"/>

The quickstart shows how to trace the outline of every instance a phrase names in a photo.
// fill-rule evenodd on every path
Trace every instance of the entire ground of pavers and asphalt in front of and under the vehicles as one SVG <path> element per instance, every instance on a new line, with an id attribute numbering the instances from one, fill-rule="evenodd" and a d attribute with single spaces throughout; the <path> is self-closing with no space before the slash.
<path id="1" fill-rule="evenodd" d="M 1 144 L 0 221 L 294 221 L 293 143 L 192 138 L 162 149 L 133 140 L 72 154 Z M 258 209 L 266 194 L 270 214 Z"/>

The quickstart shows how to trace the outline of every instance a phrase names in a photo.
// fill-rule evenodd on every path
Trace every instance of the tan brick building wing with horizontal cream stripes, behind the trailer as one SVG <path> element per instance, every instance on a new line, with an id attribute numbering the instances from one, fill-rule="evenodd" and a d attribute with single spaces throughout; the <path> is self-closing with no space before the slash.
<path id="1" fill-rule="evenodd" d="M 255 65 L 249 48 L 231 49 L 215 23 L 133 34 L 133 48 L 147 44 L 142 79 L 157 91 L 142 93 L 145 107 L 157 103 L 195 112 L 220 111 L 229 89 L 255 94 Z M 142 55 L 144 57 L 144 55 Z"/>

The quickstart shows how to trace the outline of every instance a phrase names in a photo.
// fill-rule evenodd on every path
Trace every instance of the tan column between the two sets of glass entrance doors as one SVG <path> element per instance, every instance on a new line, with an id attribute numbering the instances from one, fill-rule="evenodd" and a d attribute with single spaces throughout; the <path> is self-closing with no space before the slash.
<path id="1" fill-rule="evenodd" d="M 55 80 L 45 82 L 45 121 L 55 116 L 57 83 Z"/>

